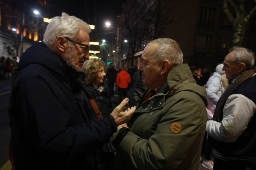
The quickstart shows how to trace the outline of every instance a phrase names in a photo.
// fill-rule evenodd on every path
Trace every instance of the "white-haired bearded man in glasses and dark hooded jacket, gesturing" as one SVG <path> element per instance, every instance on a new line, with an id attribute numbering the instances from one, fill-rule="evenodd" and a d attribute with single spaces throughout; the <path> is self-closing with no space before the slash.
<path id="1" fill-rule="evenodd" d="M 44 42 L 33 44 L 20 58 L 9 107 L 17 170 L 107 169 L 102 146 L 135 108 L 122 112 L 126 98 L 110 116 L 90 119 L 80 84 L 90 32 L 87 23 L 62 13 L 48 24 Z"/>

